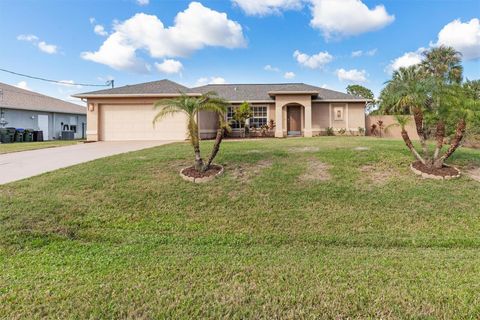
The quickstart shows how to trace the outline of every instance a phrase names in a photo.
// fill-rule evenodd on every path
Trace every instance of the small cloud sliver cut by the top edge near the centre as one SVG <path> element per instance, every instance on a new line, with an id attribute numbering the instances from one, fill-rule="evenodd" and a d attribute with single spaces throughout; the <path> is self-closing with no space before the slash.
<path id="1" fill-rule="evenodd" d="M 300 10 L 303 0 L 232 0 L 247 15 L 266 16 L 286 10 Z"/>

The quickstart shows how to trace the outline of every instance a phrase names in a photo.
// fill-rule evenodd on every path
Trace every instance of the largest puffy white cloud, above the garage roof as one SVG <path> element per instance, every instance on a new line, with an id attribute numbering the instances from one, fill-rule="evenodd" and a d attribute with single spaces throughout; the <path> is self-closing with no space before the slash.
<path id="1" fill-rule="evenodd" d="M 117 23 L 96 52 L 83 52 L 81 56 L 117 70 L 145 71 L 148 68 L 137 57 L 138 50 L 145 50 L 153 58 L 172 58 L 207 46 L 245 47 L 242 26 L 225 13 L 192 2 L 177 14 L 171 27 L 165 27 L 157 16 L 144 13 Z"/>

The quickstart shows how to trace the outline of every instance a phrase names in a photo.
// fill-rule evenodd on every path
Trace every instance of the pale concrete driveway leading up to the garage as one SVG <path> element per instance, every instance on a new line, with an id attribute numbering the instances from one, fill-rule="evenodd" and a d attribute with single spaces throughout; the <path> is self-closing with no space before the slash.
<path id="1" fill-rule="evenodd" d="M 0 184 L 33 177 L 75 164 L 161 146 L 174 141 L 111 141 L 14 152 L 0 155 Z"/>

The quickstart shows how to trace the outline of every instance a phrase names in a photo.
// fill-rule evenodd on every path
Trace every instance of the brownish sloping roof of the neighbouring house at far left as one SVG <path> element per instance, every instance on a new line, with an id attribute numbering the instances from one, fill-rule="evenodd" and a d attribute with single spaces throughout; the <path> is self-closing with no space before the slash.
<path id="1" fill-rule="evenodd" d="M 87 109 L 74 103 L 0 82 L 0 108 L 58 113 L 86 114 Z"/>

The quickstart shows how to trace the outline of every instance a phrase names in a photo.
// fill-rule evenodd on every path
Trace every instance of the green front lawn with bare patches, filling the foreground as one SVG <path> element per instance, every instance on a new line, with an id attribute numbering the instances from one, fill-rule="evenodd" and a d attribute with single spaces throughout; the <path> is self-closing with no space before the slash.
<path id="1" fill-rule="evenodd" d="M 0 186 L 0 317 L 480 317 L 480 182 L 422 180 L 382 139 L 227 141 L 205 185 L 179 177 L 191 158 L 178 143 Z"/>

